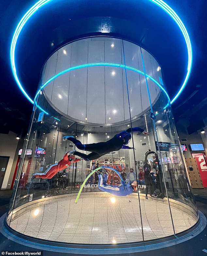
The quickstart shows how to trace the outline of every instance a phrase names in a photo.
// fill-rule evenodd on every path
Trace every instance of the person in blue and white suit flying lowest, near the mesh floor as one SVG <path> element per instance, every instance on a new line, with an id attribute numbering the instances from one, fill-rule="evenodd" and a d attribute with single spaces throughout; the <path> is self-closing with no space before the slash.
<path id="1" fill-rule="evenodd" d="M 131 194 L 133 191 L 137 190 L 137 182 L 133 183 L 125 183 L 124 180 L 121 180 L 121 184 L 119 186 L 113 186 L 106 184 L 108 174 L 98 174 L 99 183 L 98 188 L 104 192 L 113 194 L 115 196 L 127 196 Z"/>

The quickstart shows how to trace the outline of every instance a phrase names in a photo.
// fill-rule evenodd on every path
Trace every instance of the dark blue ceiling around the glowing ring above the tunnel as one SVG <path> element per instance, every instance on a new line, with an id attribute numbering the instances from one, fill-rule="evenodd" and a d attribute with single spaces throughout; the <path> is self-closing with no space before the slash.
<path id="1" fill-rule="evenodd" d="M 59 4 L 61 3 L 60 0 L 56 2 Z M 82 35 L 87 36 L 87 32 L 88 35 L 91 32 L 90 30 L 87 30 L 87 16 L 94 16 L 94 13 L 96 14 L 95 16 L 104 16 L 105 14 L 104 8 L 107 1 L 97 1 L 97 3 L 100 4 L 98 11 L 97 8 L 94 10 L 94 8 L 90 6 L 90 1 L 86 0 L 86 4 L 81 7 L 78 6 L 77 2 L 78 1 L 73 1 L 74 11 L 70 13 L 71 22 L 68 21 L 69 17 L 67 16 L 66 11 L 64 10 L 64 12 L 61 8 L 56 8 L 55 11 L 50 13 L 43 9 L 43 13 L 40 13 L 41 16 L 39 17 L 37 15 L 36 20 L 31 20 L 30 26 L 25 27 L 24 32 L 21 35 L 21 41 L 19 42 L 21 47 L 17 45 L 19 48 L 16 56 L 19 65 L 19 73 L 21 73 L 21 81 L 26 85 L 28 93 L 33 98 L 39 80 L 39 73 L 44 61 L 60 45 L 66 43 L 68 40 L 71 41 L 77 39 L 74 27 L 75 25 L 78 26 L 77 20 L 84 21 L 85 28 L 83 29 Z M 108 2 L 109 4 L 112 3 L 110 1 Z M 34 5 L 34 3 L 36 3 L 36 1 L 33 0 L 8 0 L 1 2 L 0 4 L 0 84 L 2 88 L 0 94 L 0 133 L 8 133 L 8 131 L 11 130 L 17 134 L 22 133 L 22 135 L 24 135 L 27 132 L 29 125 L 32 104 L 29 103 L 20 92 L 13 78 L 10 67 L 9 50 L 12 36 L 19 20 L 24 13 Z M 142 3 L 141 0 L 140 3 Z M 190 122 L 188 133 L 191 134 L 192 132 L 203 128 L 203 119 L 207 117 L 207 111 L 205 111 L 207 108 L 205 76 L 207 70 L 207 2 L 205 0 L 183 0 L 179 2 L 177 0 L 168 0 L 166 3 L 176 11 L 183 21 L 192 43 L 193 66 L 191 75 L 181 96 L 172 104 L 175 120 L 188 117 Z M 133 22 L 136 23 L 138 18 L 142 20 L 145 18 L 145 27 L 138 27 L 137 25 L 137 31 L 139 31 L 139 33 L 136 34 L 136 37 L 133 38 L 132 36 L 129 36 L 127 38 L 127 31 L 130 29 L 130 24 L 125 22 L 121 32 L 113 30 L 112 26 L 110 36 L 119 37 L 121 33 L 125 33 L 125 39 L 136 41 L 143 47 L 150 49 L 150 52 L 159 60 L 163 67 L 168 93 L 170 98 L 172 98 L 181 85 L 183 70 L 185 68 L 184 65 L 186 63 L 186 52 L 183 41 L 180 40 L 179 36 L 175 37 L 176 33 L 179 35 L 180 32 L 174 28 L 174 25 L 171 24 L 170 21 L 168 21 L 166 26 L 166 20 L 164 21 L 160 18 L 163 16 L 157 15 L 157 17 L 154 17 L 150 8 L 148 8 L 148 12 L 145 13 L 145 17 L 142 17 L 141 15 L 137 17 L 136 8 L 130 8 L 127 9 L 126 7 L 125 10 L 120 9 L 119 1 L 113 1 L 111 13 L 109 12 L 107 16 L 111 15 L 115 17 L 111 22 L 112 24 L 119 22 L 120 16 L 124 21 L 130 19 L 131 24 L 133 24 Z M 65 9 L 67 9 L 67 5 L 65 6 Z M 77 17 L 77 13 L 79 17 Z M 153 17 L 154 24 L 157 24 L 153 31 L 151 30 L 150 24 L 147 22 L 147 20 L 150 19 L 149 17 L 151 17 L 151 19 Z M 95 17 L 93 19 L 95 19 Z M 88 27 L 89 26 L 92 26 L 91 22 L 88 23 Z M 96 28 L 93 30 L 95 31 Z M 123 32 L 124 30 L 125 32 Z M 69 31 L 71 31 L 71 33 L 68 33 Z M 161 31 L 159 35 L 158 31 Z M 70 34 L 70 37 L 65 37 L 66 34 Z M 100 33 L 94 33 L 93 35 L 99 34 Z M 162 47 L 155 47 L 156 44 L 154 40 L 151 40 L 153 34 L 153 37 L 156 38 L 157 41 L 160 41 Z M 171 49 L 171 54 L 176 56 L 173 60 L 174 62 L 171 60 L 169 63 L 169 56 L 167 56 L 167 54 L 161 54 L 161 52 L 167 52 L 164 44 L 166 39 L 162 37 L 163 34 L 168 35 L 167 46 Z M 107 36 L 108 35 L 109 34 L 107 34 Z M 51 40 L 55 42 L 54 47 L 51 47 Z M 179 47 L 181 47 L 180 51 Z M 31 59 L 33 60 L 32 62 L 30 61 Z M 177 61 L 177 64 L 175 60 Z"/>

